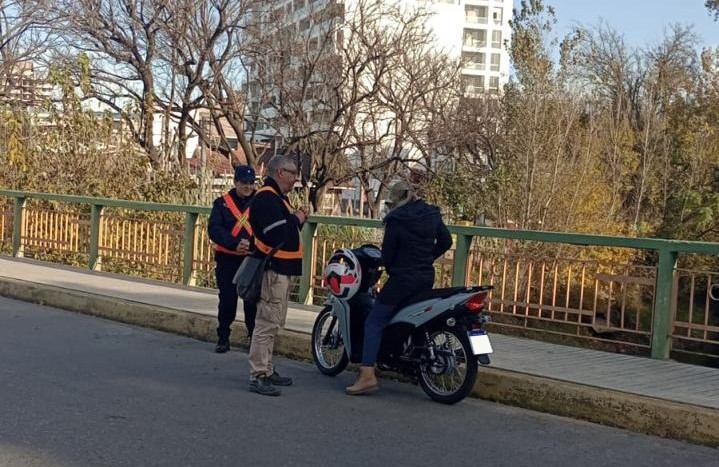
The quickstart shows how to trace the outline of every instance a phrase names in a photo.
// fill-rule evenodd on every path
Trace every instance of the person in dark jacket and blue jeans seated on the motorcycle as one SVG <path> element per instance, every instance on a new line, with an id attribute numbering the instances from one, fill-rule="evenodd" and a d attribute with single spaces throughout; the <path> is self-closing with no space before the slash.
<path id="1" fill-rule="evenodd" d="M 404 181 L 392 186 L 385 216 L 382 260 L 389 275 L 365 321 L 362 365 L 357 381 L 346 388 L 358 395 L 379 388 L 375 363 L 382 332 L 397 306 L 434 284 L 434 261 L 452 246 L 439 208 L 417 197 Z"/>

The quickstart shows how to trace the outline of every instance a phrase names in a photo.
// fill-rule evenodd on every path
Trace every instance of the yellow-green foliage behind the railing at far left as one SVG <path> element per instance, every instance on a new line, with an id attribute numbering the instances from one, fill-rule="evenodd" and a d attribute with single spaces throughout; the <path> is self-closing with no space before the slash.
<path id="1" fill-rule="evenodd" d="M 82 106 L 88 91 L 87 57 L 76 74 L 52 67 L 49 81 L 60 105 L 0 112 L 0 186 L 131 200 L 192 203 L 194 181 L 185 172 L 152 168 L 147 157 L 110 115 Z"/>

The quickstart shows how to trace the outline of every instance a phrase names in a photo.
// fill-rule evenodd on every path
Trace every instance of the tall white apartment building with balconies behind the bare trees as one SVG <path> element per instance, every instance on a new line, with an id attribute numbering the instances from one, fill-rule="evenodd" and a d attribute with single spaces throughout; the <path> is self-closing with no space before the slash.
<path id="1" fill-rule="evenodd" d="M 266 23 L 260 30 L 261 37 L 278 34 L 281 30 L 293 34 L 304 33 L 310 49 L 317 45 L 322 35 L 331 29 L 328 22 L 332 14 L 318 14 L 335 11 L 338 15 L 357 12 L 361 0 L 267 0 L 259 15 Z M 403 7 L 423 7 L 431 12 L 427 26 L 432 31 L 438 50 L 461 60 L 462 81 L 467 97 L 478 97 L 486 93 L 500 93 L 509 81 L 510 60 L 508 45 L 511 40 L 509 25 L 512 16 L 512 0 L 382 0 L 383 4 L 393 2 Z M 253 18 L 253 20 L 256 18 Z M 267 23 L 273 23 L 267 25 Z M 340 37 L 337 40 L 344 40 Z M 314 42 L 313 42 L 314 41 Z M 290 62 L 288 62 L 289 64 Z M 257 115 L 260 108 L 258 94 L 253 91 L 257 77 L 256 68 L 250 65 L 248 74 L 249 93 L 247 96 L 250 115 Z M 270 79 L 271 82 L 274 80 Z M 265 92 L 267 88 L 265 81 Z M 279 83 L 275 83 L 279 85 Z M 265 96 L 266 99 L 267 96 Z M 256 107 L 253 107 L 256 106 Z M 276 140 L 279 135 L 268 122 L 273 120 L 274 111 L 264 104 L 259 121 L 250 118 L 254 126 L 252 136 L 257 141 Z M 315 109 L 316 112 L 316 109 Z"/>

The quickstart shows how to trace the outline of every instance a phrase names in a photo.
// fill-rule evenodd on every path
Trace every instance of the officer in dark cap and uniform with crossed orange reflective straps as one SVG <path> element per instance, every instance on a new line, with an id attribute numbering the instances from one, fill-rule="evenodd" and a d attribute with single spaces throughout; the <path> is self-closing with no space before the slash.
<path id="1" fill-rule="evenodd" d="M 248 165 L 235 167 L 235 188 L 220 196 L 212 205 L 208 225 L 215 249 L 215 277 L 219 289 L 217 307 L 217 347 L 215 352 L 230 350 L 230 325 L 237 314 L 237 290 L 232 279 L 242 260 L 252 251 L 250 202 L 255 195 L 255 171 Z M 243 300 L 247 335 L 252 338 L 257 304 Z"/>

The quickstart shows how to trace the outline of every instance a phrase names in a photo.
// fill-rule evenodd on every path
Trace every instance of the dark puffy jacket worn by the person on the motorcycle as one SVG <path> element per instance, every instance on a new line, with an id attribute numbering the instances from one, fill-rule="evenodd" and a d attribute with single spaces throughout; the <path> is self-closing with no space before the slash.
<path id="1" fill-rule="evenodd" d="M 382 259 L 390 277 L 434 279 L 434 260 L 452 246 L 452 237 L 437 206 L 419 199 L 384 218 Z"/>

